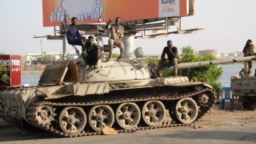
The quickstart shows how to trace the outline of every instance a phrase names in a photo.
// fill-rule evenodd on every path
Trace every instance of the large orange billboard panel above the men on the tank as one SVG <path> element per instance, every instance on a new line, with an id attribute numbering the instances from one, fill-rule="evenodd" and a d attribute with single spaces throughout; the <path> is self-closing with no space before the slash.
<path id="1" fill-rule="evenodd" d="M 43 26 L 58 26 L 65 15 L 78 18 L 78 24 L 179 17 L 189 14 L 194 0 L 42 0 Z M 69 21 L 70 22 L 70 21 Z"/>

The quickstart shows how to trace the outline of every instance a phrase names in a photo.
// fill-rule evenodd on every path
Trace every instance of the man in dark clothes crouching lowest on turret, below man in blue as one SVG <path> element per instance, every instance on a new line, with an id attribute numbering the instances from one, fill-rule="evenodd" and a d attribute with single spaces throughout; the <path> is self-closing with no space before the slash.
<path id="1" fill-rule="evenodd" d="M 94 66 L 94 69 L 97 69 L 98 59 L 101 56 L 100 46 L 94 43 L 94 37 L 89 36 L 88 42 L 85 42 L 82 46 L 82 58 L 86 62 L 86 67 Z"/>

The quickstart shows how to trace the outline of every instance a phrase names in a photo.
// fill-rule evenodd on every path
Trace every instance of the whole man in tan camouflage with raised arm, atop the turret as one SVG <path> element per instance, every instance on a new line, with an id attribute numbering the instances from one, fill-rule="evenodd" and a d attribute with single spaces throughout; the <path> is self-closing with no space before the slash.
<path id="1" fill-rule="evenodd" d="M 122 43 L 124 28 L 123 26 L 120 25 L 120 22 L 121 22 L 120 18 L 115 18 L 115 22 L 111 26 L 110 26 L 110 22 L 112 22 L 112 18 L 110 18 L 109 22 L 106 23 L 106 29 L 110 30 L 110 40 L 109 40 L 110 53 L 106 61 L 110 61 L 110 58 L 112 58 L 112 51 L 114 46 L 118 46 L 120 49 L 120 55 L 118 57 L 118 62 L 119 62 L 122 58 L 122 54 L 124 50 L 124 44 Z"/>

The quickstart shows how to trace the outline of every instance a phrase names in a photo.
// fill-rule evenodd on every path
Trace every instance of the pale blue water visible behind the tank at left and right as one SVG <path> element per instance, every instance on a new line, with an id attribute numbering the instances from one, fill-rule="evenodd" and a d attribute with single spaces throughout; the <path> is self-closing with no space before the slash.
<path id="1" fill-rule="evenodd" d="M 222 67 L 223 74 L 219 82 L 222 86 L 230 86 L 230 78 L 232 75 L 238 75 L 239 71 L 244 67 L 243 64 L 230 64 L 230 65 L 219 65 Z M 254 75 L 255 65 L 252 69 Z M 38 81 L 41 74 L 22 74 L 22 86 L 24 84 L 30 84 L 30 86 L 38 86 Z"/>

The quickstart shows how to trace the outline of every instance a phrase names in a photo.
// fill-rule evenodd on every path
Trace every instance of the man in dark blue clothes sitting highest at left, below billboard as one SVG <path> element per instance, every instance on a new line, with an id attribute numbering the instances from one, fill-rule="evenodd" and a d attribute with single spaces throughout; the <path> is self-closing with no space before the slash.
<path id="1" fill-rule="evenodd" d="M 78 28 L 76 28 L 77 21 L 78 19 L 73 17 L 71 18 L 71 24 L 66 26 L 66 39 L 70 45 L 82 46 L 82 44 L 86 42 L 86 38 L 82 37 Z"/>

